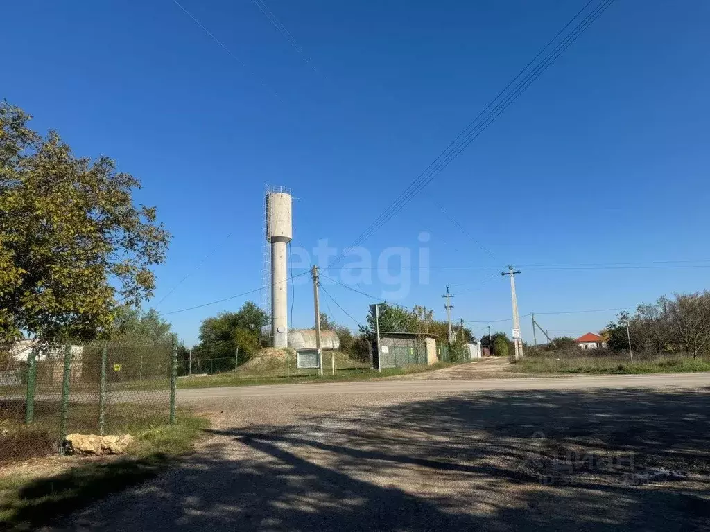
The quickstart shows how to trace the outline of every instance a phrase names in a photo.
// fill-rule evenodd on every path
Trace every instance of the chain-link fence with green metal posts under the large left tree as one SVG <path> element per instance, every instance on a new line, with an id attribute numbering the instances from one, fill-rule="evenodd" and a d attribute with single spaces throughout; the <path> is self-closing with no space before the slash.
<path id="1" fill-rule="evenodd" d="M 136 435 L 175 421 L 168 343 L 31 345 L 0 370 L 0 462 L 62 453 L 70 433 Z"/>

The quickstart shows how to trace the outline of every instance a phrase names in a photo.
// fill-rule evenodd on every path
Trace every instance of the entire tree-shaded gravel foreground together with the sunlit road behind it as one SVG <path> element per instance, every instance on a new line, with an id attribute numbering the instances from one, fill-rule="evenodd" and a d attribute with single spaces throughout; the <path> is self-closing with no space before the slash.
<path id="1" fill-rule="evenodd" d="M 709 375 L 475 383 L 184 390 L 212 438 L 48 530 L 710 529 Z"/>

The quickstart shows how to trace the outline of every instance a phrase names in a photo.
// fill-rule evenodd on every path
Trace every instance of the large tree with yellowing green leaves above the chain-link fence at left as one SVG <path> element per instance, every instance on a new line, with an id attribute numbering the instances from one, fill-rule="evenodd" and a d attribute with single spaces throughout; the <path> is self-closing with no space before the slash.
<path id="1" fill-rule="evenodd" d="M 75 157 L 56 131 L 0 102 L 0 340 L 108 337 L 118 304 L 153 294 L 170 235 L 109 157 Z"/>

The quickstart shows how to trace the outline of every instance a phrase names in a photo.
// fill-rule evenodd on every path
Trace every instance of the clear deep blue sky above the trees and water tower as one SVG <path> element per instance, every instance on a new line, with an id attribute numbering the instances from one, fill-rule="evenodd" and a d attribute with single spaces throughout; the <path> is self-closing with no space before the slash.
<path id="1" fill-rule="evenodd" d="M 174 238 L 152 304 L 191 274 L 157 306 L 164 312 L 261 284 L 265 182 L 298 198 L 294 247 L 327 238 L 345 248 L 584 4 L 268 0 L 301 54 L 251 0 L 181 3 L 239 60 L 171 0 L 6 2 L 0 35 L 0 97 L 38 130 L 60 130 L 78 155 L 114 157 L 143 182 L 138 201 L 158 207 Z M 417 236 L 430 233 L 429 282 L 413 279 L 398 302 L 442 318 L 449 283 L 454 318 L 509 318 L 507 278 L 495 276 L 509 262 L 523 269 L 521 314 L 708 287 L 707 267 L 530 266 L 710 259 L 709 27 L 704 0 L 616 1 L 366 242 L 375 259 L 388 246 L 416 256 Z M 495 269 L 474 269 L 486 267 Z M 378 272 L 364 292 L 388 289 Z M 310 326 L 312 291 L 298 280 L 294 324 Z M 364 321 L 368 298 L 324 284 Z M 203 318 L 243 302 L 166 317 L 190 345 Z M 539 320 L 577 336 L 613 314 Z M 510 333 L 509 322 L 493 328 Z"/>

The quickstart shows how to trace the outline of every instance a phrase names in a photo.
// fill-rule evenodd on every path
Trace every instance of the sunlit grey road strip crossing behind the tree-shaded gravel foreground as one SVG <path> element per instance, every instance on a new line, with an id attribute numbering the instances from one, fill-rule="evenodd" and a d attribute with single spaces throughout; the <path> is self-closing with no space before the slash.
<path id="1" fill-rule="evenodd" d="M 669 388 L 710 386 L 707 373 L 657 373 L 653 375 L 572 375 L 525 379 L 458 379 L 417 381 L 383 379 L 324 384 L 274 384 L 178 390 L 178 400 L 189 403 L 227 397 L 312 396 L 330 394 L 401 394 L 481 392 L 484 390 L 545 390 L 591 388 Z"/>

